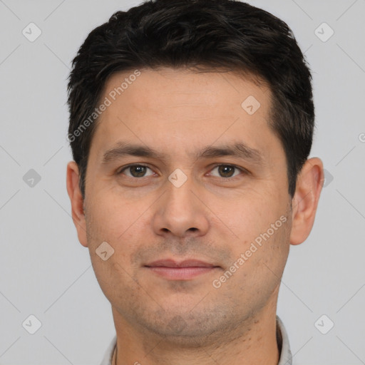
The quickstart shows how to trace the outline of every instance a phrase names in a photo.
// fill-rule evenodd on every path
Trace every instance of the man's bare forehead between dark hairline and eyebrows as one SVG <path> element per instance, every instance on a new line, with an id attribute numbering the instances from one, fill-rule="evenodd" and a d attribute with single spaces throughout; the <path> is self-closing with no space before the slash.
<path id="1" fill-rule="evenodd" d="M 264 84 L 228 72 L 163 68 L 138 73 L 115 73 L 106 83 L 101 102 L 108 100 L 108 107 L 92 143 L 98 154 L 120 139 L 166 153 L 233 139 L 257 150 L 270 148 L 271 92 Z"/>

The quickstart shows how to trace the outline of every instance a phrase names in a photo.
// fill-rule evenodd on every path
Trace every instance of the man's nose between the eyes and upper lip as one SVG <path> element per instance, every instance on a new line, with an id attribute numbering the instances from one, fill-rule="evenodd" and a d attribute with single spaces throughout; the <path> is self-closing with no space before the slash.
<path id="1" fill-rule="evenodd" d="M 167 181 L 165 193 L 154 205 L 154 232 L 165 237 L 205 235 L 209 229 L 209 211 L 198 196 L 197 187 L 191 178 L 180 187 Z"/>

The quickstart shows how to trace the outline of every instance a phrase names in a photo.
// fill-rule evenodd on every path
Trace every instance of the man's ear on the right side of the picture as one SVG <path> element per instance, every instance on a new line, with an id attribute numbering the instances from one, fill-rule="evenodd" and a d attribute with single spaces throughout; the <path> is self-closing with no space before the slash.
<path id="1" fill-rule="evenodd" d="M 323 183 L 322 161 L 319 158 L 310 158 L 304 163 L 299 173 L 292 200 L 292 232 L 290 235 L 292 245 L 299 245 L 309 236 Z"/>

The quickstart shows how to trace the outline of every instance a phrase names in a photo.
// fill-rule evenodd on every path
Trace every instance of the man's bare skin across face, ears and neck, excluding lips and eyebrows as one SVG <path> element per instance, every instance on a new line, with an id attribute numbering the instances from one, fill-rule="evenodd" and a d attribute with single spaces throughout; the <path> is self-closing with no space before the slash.
<path id="1" fill-rule="evenodd" d="M 76 163 L 67 167 L 78 239 L 112 305 L 116 363 L 277 364 L 279 283 L 290 244 L 302 243 L 312 230 L 322 162 L 307 160 L 290 197 L 284 150 L 268 124 L 269 88 L 232 73 L 140 71 L 98 120 L 85 200 Z M 128 75 L 111 76 L 101 100 Z M 248 96 L 261 104 L 253 115 L 241 107 Z M 102 163 L 121 140 L 166 156 L 125 155 Z M 258 150 L 262 161 L 191 155 L 235 142 Z M 148 168 L 140 178 L 140 170 L 123 170 L 129 164 Z M 180 187 L 168 180 L 175 169 L 187 178 Z M 282 216 L 287 221 L 221 287 L 213 287 Z M 96 255 L 101 242 L 114 249 L 106 261 Z M 186 280 L 165 279 L 145 267 L 166 258 L 217 267 Z"/>

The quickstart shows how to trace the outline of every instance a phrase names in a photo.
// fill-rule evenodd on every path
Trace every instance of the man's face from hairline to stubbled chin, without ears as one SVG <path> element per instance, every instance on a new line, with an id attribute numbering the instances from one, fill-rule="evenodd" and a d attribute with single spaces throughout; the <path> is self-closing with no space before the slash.
<path id="1" fill-rule="evenodd" d="M 289 252 L 270 91 L 232 73 L 140 72 L 115 101 L 130 73 L 113 75 L 101 98 L 111 105 L 91 143 L 81 242 L 126 327 L 170 338 L 232 331 L 275 311 Z M 118 150 L 127 143 L 155 155 Z M 236 143 L 240 155 L 219 150 Z M 114 250 L 105 261 L 102 242 Z"/>

